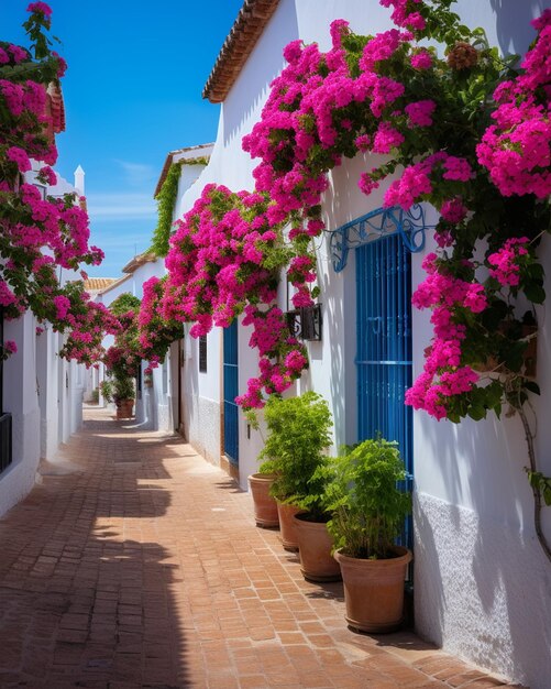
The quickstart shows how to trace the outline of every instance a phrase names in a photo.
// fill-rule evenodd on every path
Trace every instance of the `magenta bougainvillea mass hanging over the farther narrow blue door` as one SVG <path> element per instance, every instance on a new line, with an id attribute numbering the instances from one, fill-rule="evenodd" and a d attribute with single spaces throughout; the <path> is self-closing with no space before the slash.
<path id="1" fill-rule="evenodd" d="M 285 316 L 274 302 L 278 271 L 290 261 L 297 300 L 311 304 L 307 285 L 315 277 L 315 262 L 310 255 L 293 258 L 293 250 L 284 244 L 283 227 L 271 210 L 273 206 L 262 194 L 235 194 L 207 185 L 176 223 L 161 297 L 163 318 L 192 322 L 192 337 L 207 335 L 212 325 L 228 327 L 245 313 L 243 324 L 253 326 L 250 344 L 260 354 L 260 375 L 251 379 L 247 393 L 239 397 L 246 407 L 262 406 L 263 391 L 286 390 L 308 364 L 304 347 L 289 337 Z M 150 293 L 156 288 L 155 281 L 144 285 L 140 327 L 150 339 L 141 340 L 143 344 L 151 343 L 154 299 Z"/>

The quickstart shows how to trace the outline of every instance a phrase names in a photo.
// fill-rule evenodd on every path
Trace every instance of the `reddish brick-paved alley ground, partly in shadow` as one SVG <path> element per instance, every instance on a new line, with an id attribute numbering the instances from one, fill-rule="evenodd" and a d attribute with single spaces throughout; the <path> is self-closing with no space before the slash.
<path id="1" fill-rule="evenodd" d="M 2 689 L 503 686 L 412 634 L 353 634 L 342 584 L 304 581 L 224 473 L 86 414 L 0 520 Z"/>

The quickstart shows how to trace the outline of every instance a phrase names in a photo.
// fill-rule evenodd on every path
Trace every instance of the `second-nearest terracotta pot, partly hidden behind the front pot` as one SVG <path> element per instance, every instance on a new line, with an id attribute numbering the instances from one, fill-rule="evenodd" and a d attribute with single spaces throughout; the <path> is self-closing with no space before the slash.
<path id="1" fill-rule="evenodd" d="M 310 522 L 308 514 L 295 515 L 300 571 L 308 581 L 340 581 L 341 568 L 331 556 L 333 538 L 324 522 Z"/>

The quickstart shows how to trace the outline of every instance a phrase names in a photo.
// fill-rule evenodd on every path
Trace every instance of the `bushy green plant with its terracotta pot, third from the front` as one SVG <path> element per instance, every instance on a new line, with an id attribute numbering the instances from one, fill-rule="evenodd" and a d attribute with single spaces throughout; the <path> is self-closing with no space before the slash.
<path id="1" fill-rule="evenodd" d="M 258 456 L 261 473 L 273 474 L 271 494 L 277 501 L 283 546 L 298 548 L 293 516 L 310 495 L 310 481 L 331 445 L 331 412 L 321 395 L 272 395 L 264 409 L 267 437 Z"/>

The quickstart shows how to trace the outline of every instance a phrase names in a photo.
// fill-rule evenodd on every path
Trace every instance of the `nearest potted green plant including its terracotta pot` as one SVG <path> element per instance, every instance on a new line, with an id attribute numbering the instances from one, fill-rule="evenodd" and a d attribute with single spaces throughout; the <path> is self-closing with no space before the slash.
<path id="1" fill-rule="evenodd" d="M 412 557 L 395 545 L 411 511 L 411 495 L 398 486 L 405 479 L 397 444 L 383 438 L 346 448 L 334 460 L 328 528 L 341 566 L 346 622 L 362 632 L 392 632 L 401 624 Z"/>

